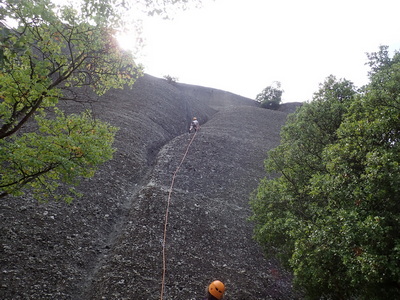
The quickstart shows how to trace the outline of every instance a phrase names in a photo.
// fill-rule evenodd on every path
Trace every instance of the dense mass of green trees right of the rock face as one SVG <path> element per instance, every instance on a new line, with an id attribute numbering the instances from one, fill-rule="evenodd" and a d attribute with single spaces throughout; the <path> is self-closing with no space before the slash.
<path id="1" fill-rule="evenodd" d="M 282 130 L 252 199 L 255 238 L 310 299 L 400 296 L 400 54 L 358 93 L 329 77 Z"/>

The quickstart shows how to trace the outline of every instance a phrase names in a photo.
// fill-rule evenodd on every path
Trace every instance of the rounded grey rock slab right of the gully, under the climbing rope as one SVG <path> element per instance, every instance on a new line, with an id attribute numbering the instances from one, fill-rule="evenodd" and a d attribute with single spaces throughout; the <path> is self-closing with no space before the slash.
<path id="1" fill-rule="evenodd" d="M 166 299 L 201 299 L 215 278 L 226 283 L 226 299 L 296 298 L 288 275 L 252 240 L 247 221 L 249 194 L 285 119 L 280 112 L 232 107 L 197 133 L 169 208 Z M 149 183 L 132 201 L 122 234 L 94 277 L 90 299 L 159 299 L 166 201 L 189 141 L 184 134 L 161 149 Z"/>

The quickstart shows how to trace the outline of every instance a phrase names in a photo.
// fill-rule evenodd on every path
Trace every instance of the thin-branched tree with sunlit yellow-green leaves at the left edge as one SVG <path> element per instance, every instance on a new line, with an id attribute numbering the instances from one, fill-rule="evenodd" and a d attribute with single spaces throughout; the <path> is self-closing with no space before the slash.
<path id="1" fill-rule="evenodd" d="M 66 115 L 58 103 L 94 101 L 142 75 L 114 38 L 132 3 L 166 13 L 149 0 L 0 1 L 0 198 L 29 189 L 38 199 L 70 201 L 73 189 L 57 196 L 60 183 L 93 176 L 111 159 L 116 128 L 90 112 Z M 6 26 L 11 21 L 17 25 Z"/>

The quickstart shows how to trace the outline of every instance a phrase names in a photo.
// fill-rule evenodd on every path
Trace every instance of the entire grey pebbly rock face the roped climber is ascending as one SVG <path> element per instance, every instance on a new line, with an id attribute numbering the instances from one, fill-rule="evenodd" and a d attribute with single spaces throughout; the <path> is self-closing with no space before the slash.
<path id="1" fill-rule="evenodd" d="M 118 150 L 81 182 L 84 197 L 2 200 L 0 299 L 160 299 L 164 233 L 164 299 L 203 299 L 214 279 L 226 284 L 224 299 L 299 298 L 247 221 L 266 152 L 296 106 L 261 109 L 149 75 L 101 97 L 93 109 L 120 127 Z M 201 123 L 195 136 L 192 116 Z"/>

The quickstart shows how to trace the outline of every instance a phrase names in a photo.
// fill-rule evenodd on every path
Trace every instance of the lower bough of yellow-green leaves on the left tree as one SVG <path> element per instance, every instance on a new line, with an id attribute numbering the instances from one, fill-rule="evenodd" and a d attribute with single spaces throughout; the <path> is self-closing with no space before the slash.
<path id="1" fill-rule="evenodd" d="M 22 195 L 22 188 L 29 187 L 39 200 L 70 201 L 70 195 L 55 192 L 59 182 L 76 184 L 78 177 L 92 177 L 99 164 L 112 158 L 115 127 L 95 121 L 88 111 L 68 116 L 55 111 L 55 118 L 36 116 L 38 132 L 0 140 L 4 193 Z"/>

